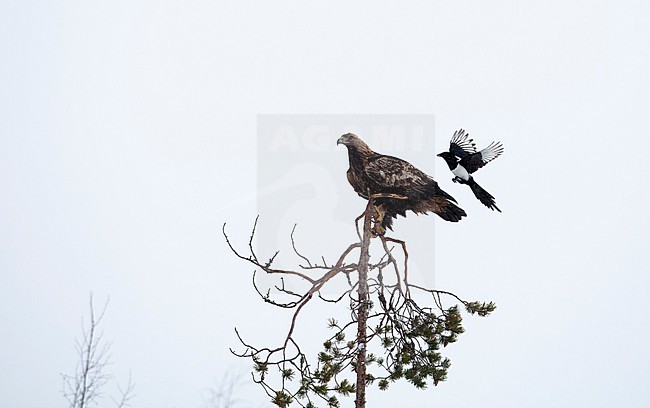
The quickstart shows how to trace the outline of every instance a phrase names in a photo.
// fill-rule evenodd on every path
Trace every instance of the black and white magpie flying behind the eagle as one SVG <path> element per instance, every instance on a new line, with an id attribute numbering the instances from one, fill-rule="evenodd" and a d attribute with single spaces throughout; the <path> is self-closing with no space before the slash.
<path id="1" fill-rule="evenodd" d="M 467 184 L 483 205 L 501 212 L 495 204 L 494 197 L 479 186 L 471 174 L 499 157 L 503 153 L 503 145 L 501 142 L 492 142 L 488 147 L 477 152 L 474 140 L 468 137 L 469 134 L 463 129 L 457 130 L 449 143 L 449 151 L 442 152 L 438 156 L 445 159 L 449 170 L 454 173 L 455 177 L 452 179 L 454 183 Z"/>

